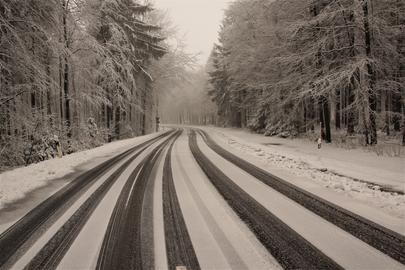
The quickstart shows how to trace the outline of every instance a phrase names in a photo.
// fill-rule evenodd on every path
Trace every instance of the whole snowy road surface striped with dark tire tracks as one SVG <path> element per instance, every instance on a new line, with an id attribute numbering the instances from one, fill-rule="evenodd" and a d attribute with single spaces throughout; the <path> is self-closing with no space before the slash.
<path id="1" fill-rule="evenodd" d="M 405 237 L 173 129 L 0 235 L 0 269 L 404 269 Z"/>

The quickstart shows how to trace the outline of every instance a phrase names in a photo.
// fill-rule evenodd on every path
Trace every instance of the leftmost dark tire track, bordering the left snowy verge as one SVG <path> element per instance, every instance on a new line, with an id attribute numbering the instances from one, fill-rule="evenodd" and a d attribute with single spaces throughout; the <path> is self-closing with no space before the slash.
<path id="1" fill-rule="evenodd" d="M 0 268 L 8 262 L 32 235 L 39 231 L 47 221 L 50 221 L 52 216 L 56 215 L 60 209 L 69 203 L 73 203 L 78 198 L 77 194 L 90 188 L 103 173 L 134 151 L 167 136 L 169 133 L 171 132 L 166 132 L 139 144 L 83 173 L 4 231 L 0 235 Z"/>

